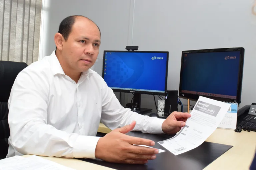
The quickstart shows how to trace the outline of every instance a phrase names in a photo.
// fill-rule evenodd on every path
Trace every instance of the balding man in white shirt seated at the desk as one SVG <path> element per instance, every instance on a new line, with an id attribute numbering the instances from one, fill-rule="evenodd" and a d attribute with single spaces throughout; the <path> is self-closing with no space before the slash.
<path id="1" fill-rule="evenodd" d="M 19 73 L 8 101 L 7 157 L 35 154 L 143 164 L 155 159 L 158 150 L 136 145 L 154 142 L 125 133 L 174 134 L 185 126 L 188 113 L 175 112 L 164 120 L 120 105 L 102 77 L 89 69 L 100 37 L 88 18 L 67 17 L 54 37 L 56 51 Z M 96 137 L 100 121 L 113 129 L 104 137 Z"/>

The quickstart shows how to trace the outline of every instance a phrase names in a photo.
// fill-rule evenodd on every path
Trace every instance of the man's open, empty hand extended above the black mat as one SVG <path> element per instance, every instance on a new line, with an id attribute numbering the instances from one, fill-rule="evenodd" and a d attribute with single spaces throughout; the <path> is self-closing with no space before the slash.
<path id="1" fill-rule="evenodd" d="M 144 164 L 148 160 L 156 158 L 158 149 L 144 146 L 153 146 L 155 142 L 139 137 L 126 135 L 136 125 L 133 121 L 130 125 L 117 128 L 98 140 L 95 149 L 95 157 L 108 162 Z M 135 145 L 134 145 L 135 144 Z"/>

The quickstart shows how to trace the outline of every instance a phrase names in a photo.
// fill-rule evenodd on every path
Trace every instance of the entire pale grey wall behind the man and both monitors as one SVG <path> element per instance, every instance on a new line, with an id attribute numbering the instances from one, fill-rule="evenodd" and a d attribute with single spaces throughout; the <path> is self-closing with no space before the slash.
<path id="1" fill-rule="evenodd" d="M 245 59 L 240 107 L 256 101 L 253 0 L 44 1 L 43 12 L 47 15 L 42 20 L 44 45 L 40 57 L 54 50 L 54 34 L 61 20 L 69 15 L 84 15 L 98 24 L 102 32 L 99 59 L 103 58 L 103 50 L 124 50 L 126 45 L 139 45 L 139 50 L 169 51 L 167 90 L 179 88 L 182 50 L 242 46 Z M 94 70 L 101 75 L 102 63 L 96 64 L 100 69 L 95 65 Z M 122 95 L 125 102 L 130 102 L 130 94 Z M 152 95 L 142 96 L 142 107 L 155 111 Z"/>

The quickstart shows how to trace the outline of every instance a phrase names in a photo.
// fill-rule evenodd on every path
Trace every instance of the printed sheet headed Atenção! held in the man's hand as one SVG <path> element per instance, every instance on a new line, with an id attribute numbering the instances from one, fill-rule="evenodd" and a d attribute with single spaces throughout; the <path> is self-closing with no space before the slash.
<path id="1" fill-rule="evenodd" d="M 201 145 L 217 128 L 230 104 L 200 96 L 191 117 L 177 135 L 158 143 L 178 155 Z"/>

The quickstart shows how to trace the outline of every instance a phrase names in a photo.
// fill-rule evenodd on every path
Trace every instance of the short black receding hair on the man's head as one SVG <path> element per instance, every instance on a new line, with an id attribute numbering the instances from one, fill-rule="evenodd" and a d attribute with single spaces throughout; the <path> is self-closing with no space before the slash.
<path id="1" fill-rule="evenodd" d="M 82 16 L 82 15 L 72 15 L 72 16 L 69 16 L 69 17 L 66 17 L 64 18 L 61 23 L 60 23 L 60 26 L 59 26 L 59 31 L 58 33 L 60 33 L 64 40 L 67 41 L 68 40 L 68 36 L 71 32 L 71 29 L 75 23 L 75 19 L 76 17 L 84 17 L 84 18 L 87 18 L 85 16 Z M 89 18 L 87 18 L 88 20 L 90 20 Z M 92 21 L 92 20 L 90 20 Z M 93 21 L 92 21 L 93 22 Z M 93 22 L 95 24 L 95 22 Z M 97 24 L 95 24 L 97 26 Z M 97 26 L 98 27 L 98 26 Z M 99 31 L 100 31 L 100 28 L 98 27 Z M 100 32 L 100 35 L 101 35 L 101 32 Z"/>

